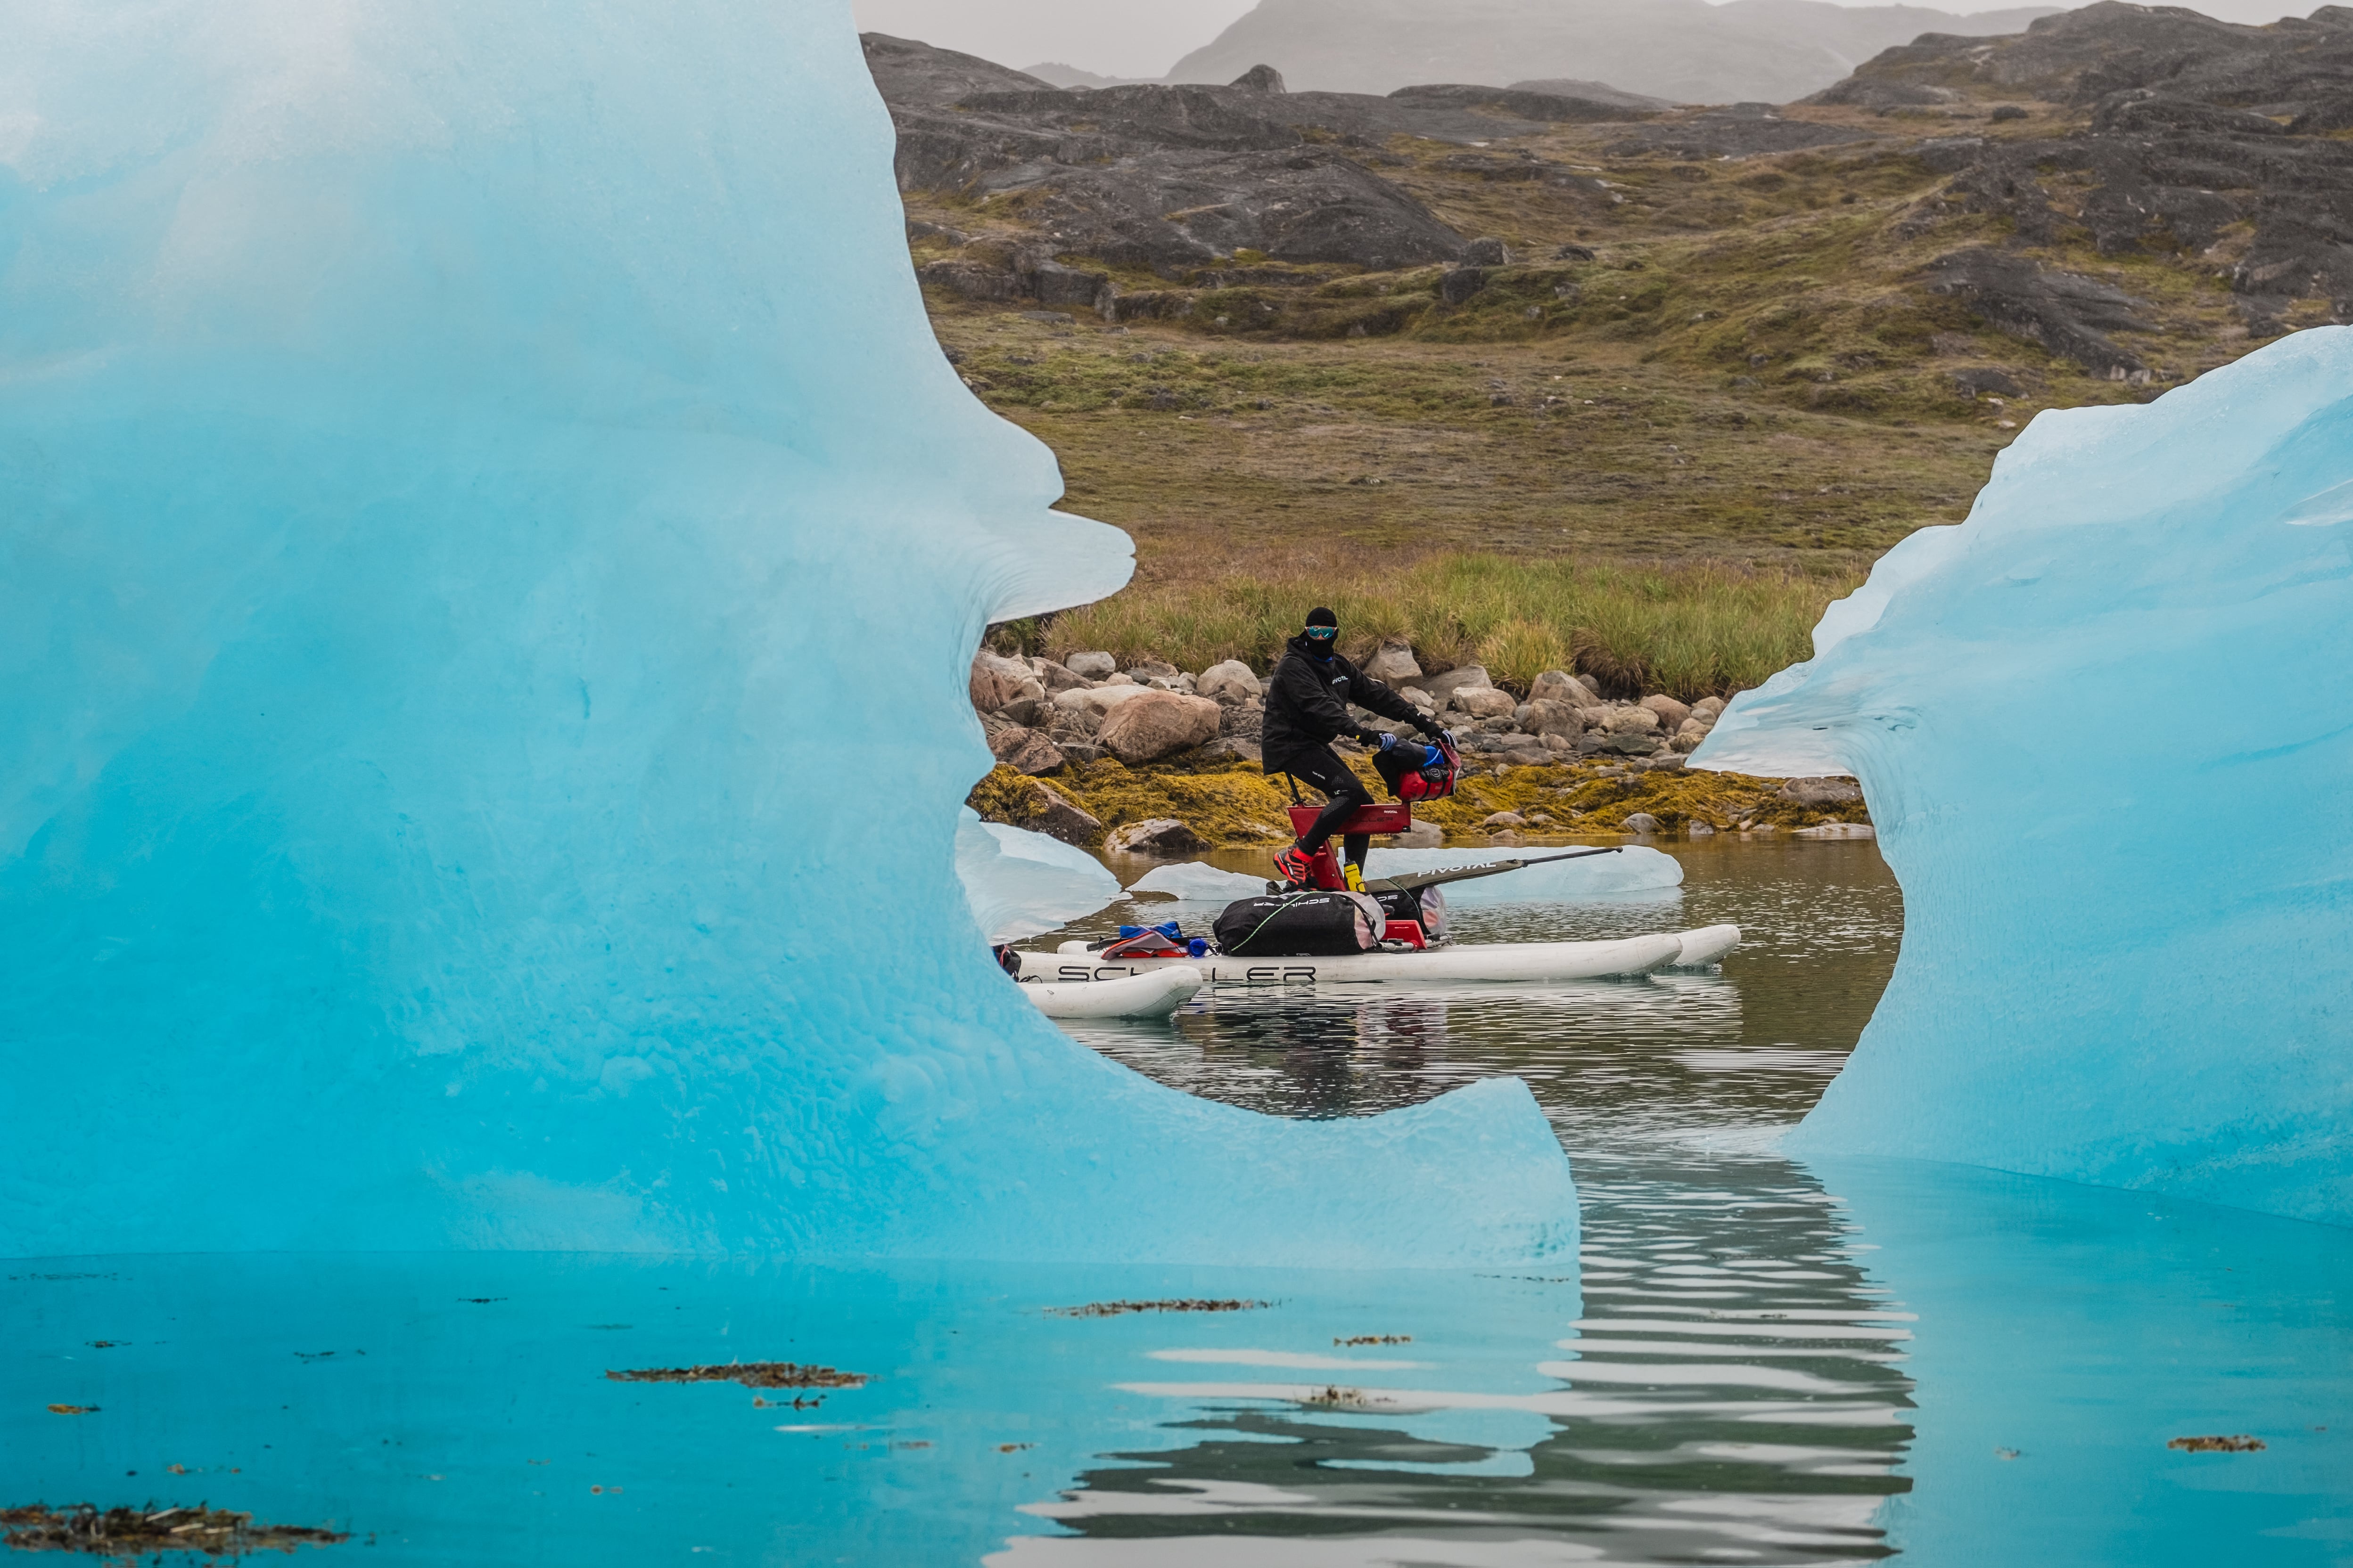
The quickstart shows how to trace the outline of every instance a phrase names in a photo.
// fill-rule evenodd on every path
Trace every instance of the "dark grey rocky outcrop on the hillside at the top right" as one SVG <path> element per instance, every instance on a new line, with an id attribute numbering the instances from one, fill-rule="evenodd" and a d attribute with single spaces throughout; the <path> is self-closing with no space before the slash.
<path id="1" fill-rule="evenodd" d="M 2024 244 L 2054 244 L 2080 226 L 2113 256 L 2207 252 L 2252 230 L 2224 261 L 2252 331 L 2278 331 L 2289 301 L 2311 296 L 2353 317 L 2353 143 L 2332 134 L 2353 127 L 2353 9 L 2252 28 L 2104 0 L 2014 38 L 1918 38 L 1819 101 L 1885 108 L 1995 94 L 2089 108 L 2089 122 L 2066 136 L 1922 143 L 1922 162 L 1951 181 L 1904 219 L 1906 233 L 1995 214 Z M 2002 270 L 1979 252 L 1960 256 L 1967 277 L 1948 292 L 1986 301 L 1988 322 L 2097 371 L 2139 369 L 2104 336 L 2129 329 L 2132 301 L 2031 266 Z"/>

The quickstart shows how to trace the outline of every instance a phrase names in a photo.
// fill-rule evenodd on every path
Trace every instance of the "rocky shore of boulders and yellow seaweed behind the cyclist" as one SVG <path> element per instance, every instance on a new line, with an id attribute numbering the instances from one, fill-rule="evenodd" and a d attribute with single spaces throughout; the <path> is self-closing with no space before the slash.
<path id="1" fill-rule="evenodd" d="M 1567 670 L 1548 670 L 1520 693 L 1497 686 L 1480 665 L 1428 675 L 1402 642 L 1384 644 L 1365 670 L 1438 712 L 1464 750 L 1464 785 L 1452 799 L 1417 806 L 1417 837 L 1407 842 L 1871 835 L 1852 778 L 1685 771 L 1722 698 L 1614 701 Z M 1059 661 L 984 651 L 972 661 L 972 705 L 998 766 L 972 792 L 972 806 L 1113 853 L 1287 842 L 1289 792 L 1259 769 L 1261 693 L 1261 677 L 1240 661 L 1186 672 L 1144 658 L 1120 670 L 1101 651 Z M 1395 729 L 1353 712 L 1369 729 Z M 1339 750 L 1374 778 L 1360 748 L 1344 741 Z"/>

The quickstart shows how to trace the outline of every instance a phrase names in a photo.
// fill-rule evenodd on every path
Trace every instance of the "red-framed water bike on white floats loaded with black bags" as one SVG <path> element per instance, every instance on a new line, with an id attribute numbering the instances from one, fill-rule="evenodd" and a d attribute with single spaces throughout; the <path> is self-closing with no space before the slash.
<path id="1" fill-rule="evenodd" d="M 1452 795 L 1459 757 L 1440 743 L 1440 762 L 1391 780 L 1398 804 L 1360 806 L 1341 823 L 1344 835 L 1393 835 L 1414 825 L 1417 797 Z M 1391 769 L 1381 769 L 1384 778 Z M 1421 785 L 1421 788 L 1414 788 Z M 1320 806 L 1292 806 L 1304 835 Z M 1449 882 L 1501 877 L 1527 865 L 1614 856 L 1612 849 L 1572 849 L 1558 856 L 1494 860 L 1445 872 L 1381 877 L 1360 891 L 1346 884 L 1332 842 L 1308 863 L 1306 886 L 1268 884 L 1266 896 L 1226 905 L 1217 938 L 1186 938 L 1174 922 L 1120 926 L 1104 943 L 1064 943 L 1054 952 L 1007 952 L 1005 966 L 1019 980 L 1049 985 L 1101 985 L 1158 969 L 1198 971 L 1205 985 L 1365 985 L 1424 980 L 1602 980 L 1645 976 L 1659 969 L 1715 964 L 1741 940 L 1739 926 L 1661 931 L 1593 943 L 1454 943 L 1440 891 Z"/>

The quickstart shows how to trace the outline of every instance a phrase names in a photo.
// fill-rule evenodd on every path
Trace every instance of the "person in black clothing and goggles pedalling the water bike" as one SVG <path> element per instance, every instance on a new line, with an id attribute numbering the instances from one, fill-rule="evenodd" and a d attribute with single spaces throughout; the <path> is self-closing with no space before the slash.
<path id="1" fill-rule="evenodd" d="M 1266 682 L 1266 724 L 1259 729 L 1261 766 L 1266 776 L 1289 773 L 1325 792 L 1329 804 L 1308 832 L 1275 856 L 1275 870 L 1292 886 L 1311 882 L 1308 860 L 1360 806 L 1372 804 L 1372 790 L 1332 752 L 1332 741 L 1353 736 L 1360 745 L 1391 750 L 1414 745 L 1379 729 L 1362 729 L 1348 717 L 1348 703 L 1412 724 L 1424 736 L 1438 741 L 1447 731 L 1438 729 L 1433 715 L 1421 712 L 1402 696 L 1372 679 L 1339 654 L 1339 616 L 1329 609 L 1308 611 L 1306 630 L 1285 644 L 1282 663 Z M 1421 748 L 1417 748 L 1421 750 Z M 1372 835 L 1351 832 L 1341 839 L 1346 853 L 1346 882 L 1351 889 L 1365 886 L 1365 851 Z"/>

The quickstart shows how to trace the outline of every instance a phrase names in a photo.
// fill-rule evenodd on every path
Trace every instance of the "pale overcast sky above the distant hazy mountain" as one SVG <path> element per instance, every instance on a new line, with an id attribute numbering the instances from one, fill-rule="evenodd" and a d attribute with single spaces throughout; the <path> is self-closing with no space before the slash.
<path id="1" fill-rule="evenodd" d="M 944 49 L 979 54 L 1000 66 L 1061 61 L 1104 75 L 1158 80 L 1179 56 L 1217 38 L 1257 0 L 854 0 L 859 28 L 920 38 Z M 1880 5 L 1887 0 L 1840 0 Z M 1911 0 L 1946 12 L 1991 12 L 2035 0 Z M 2066 5 L 2066 0 L 2045 0 Z M 2174 0 L 2181 2 L 2181 0 Z M 2188 0 L 2193 9 L 2231 21 L 2271 21 L 2304 14 L 2318 0 Z"/>

